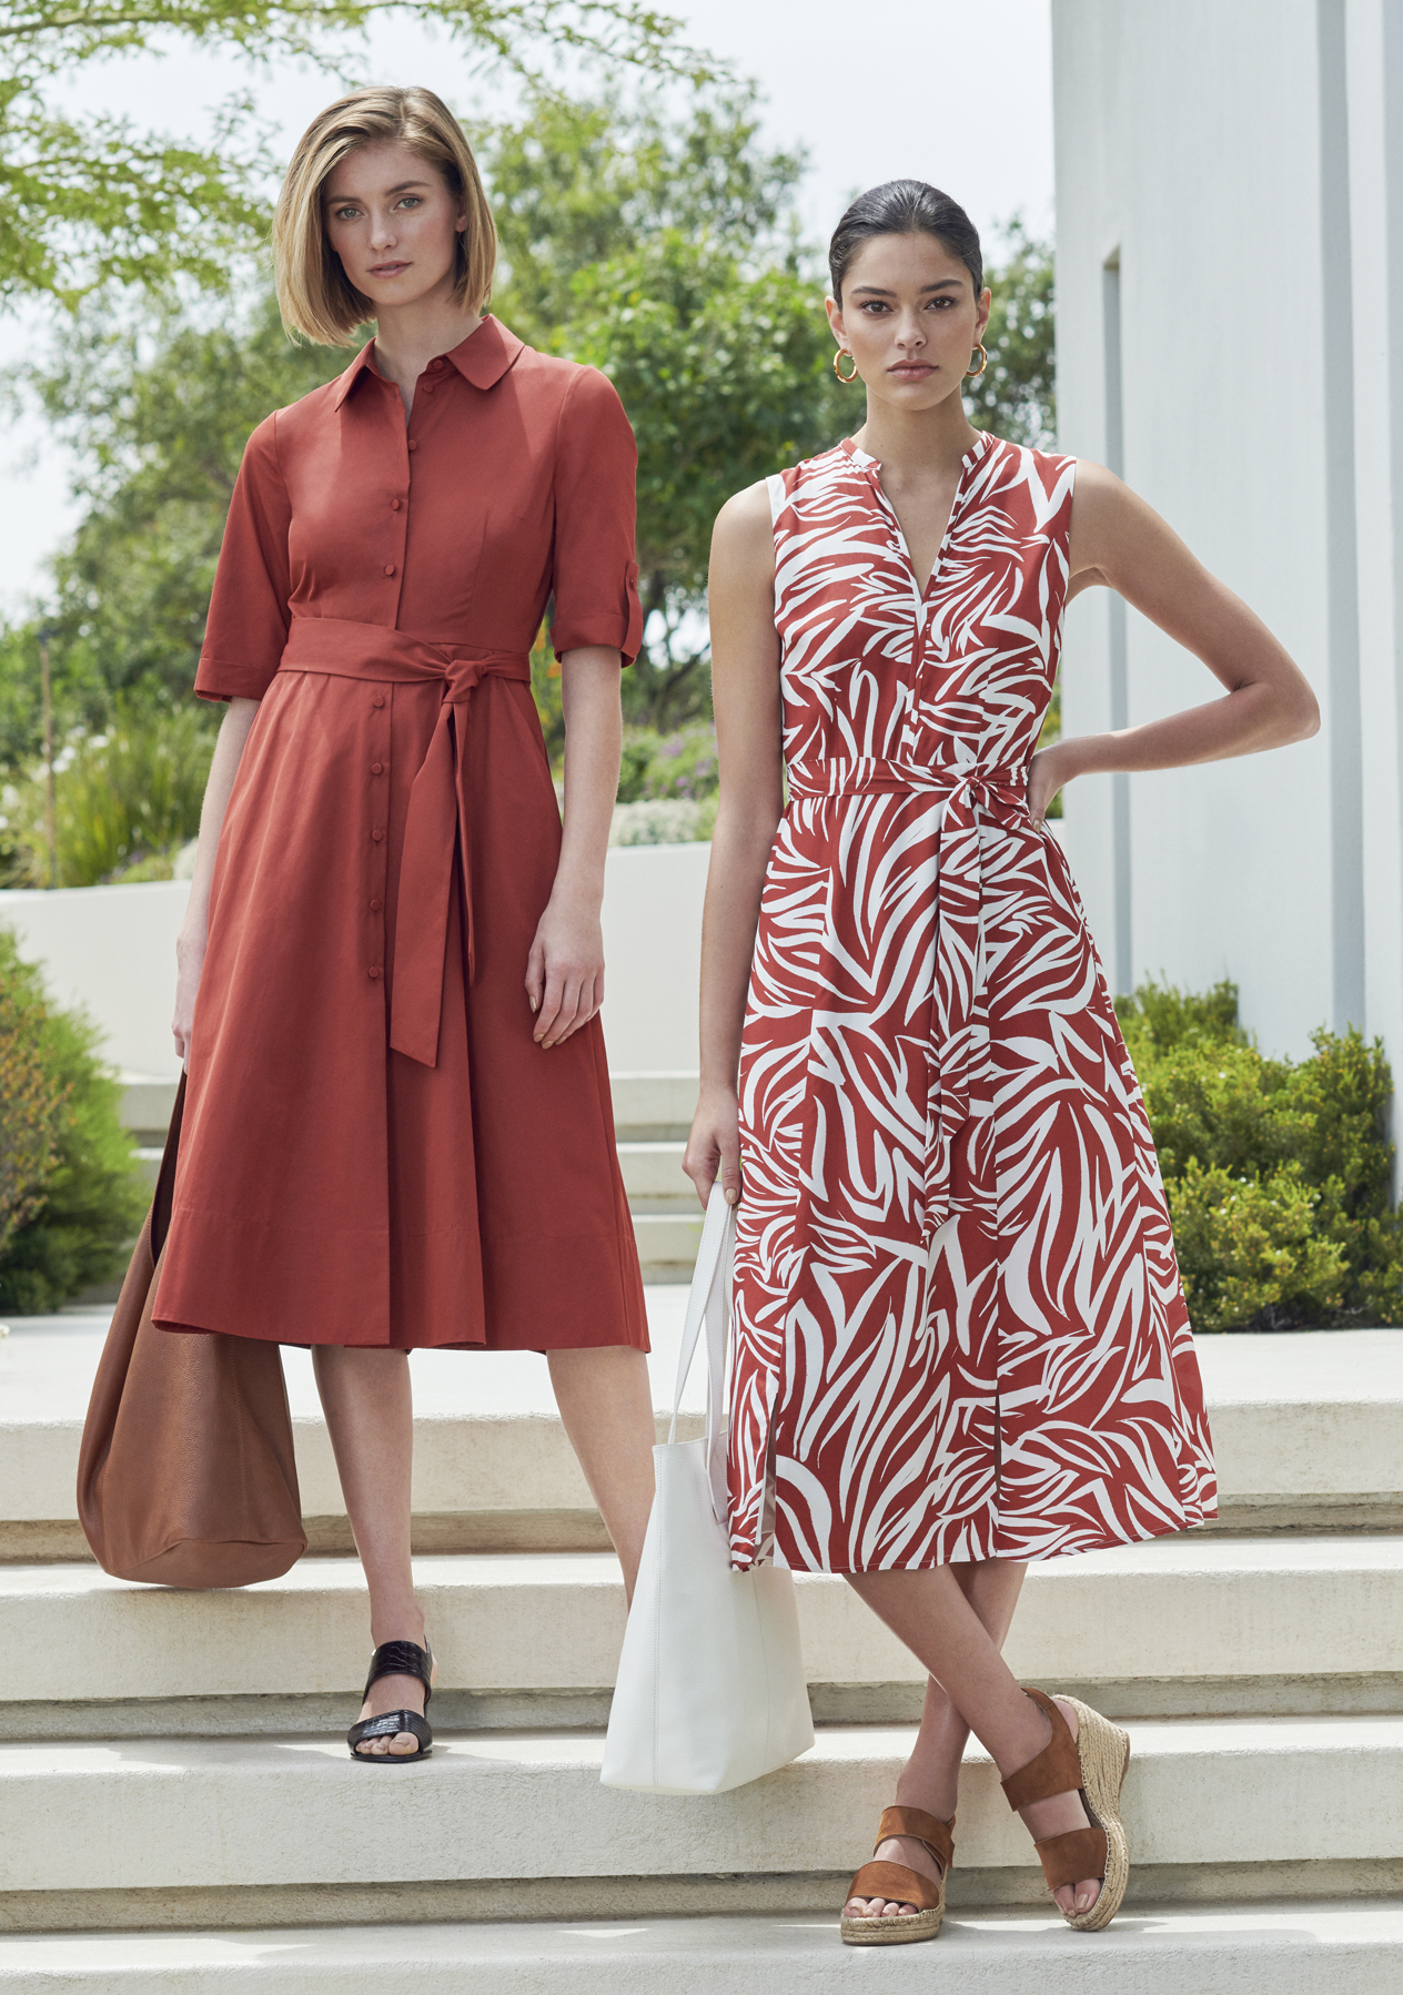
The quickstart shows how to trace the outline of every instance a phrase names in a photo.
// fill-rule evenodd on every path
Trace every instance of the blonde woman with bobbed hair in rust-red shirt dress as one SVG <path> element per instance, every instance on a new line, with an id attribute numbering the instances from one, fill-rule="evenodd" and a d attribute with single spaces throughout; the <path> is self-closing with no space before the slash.
<path id="1" fill-rule="evenodd" d="M 491 211 L 429 90 L 331 104 L 273 245 L 291 333 L 375 339 L 253 431 L 230 509 L 156 1321 L 313 1347 L 375 1650 L 349 1744 L 403 1766 L 433 1742 L 407 1353 L 549 1353 L 629 1588 L 653 1496 L 599 1027 L 637 453 L 603 375 L 483 315 Z M 551 600 L 563 828 L 527 658 Z"/>

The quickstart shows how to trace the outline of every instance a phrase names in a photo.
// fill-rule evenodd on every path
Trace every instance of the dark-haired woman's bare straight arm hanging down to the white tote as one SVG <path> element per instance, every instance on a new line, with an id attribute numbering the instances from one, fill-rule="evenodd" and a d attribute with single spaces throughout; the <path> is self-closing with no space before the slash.
<path id="1" fill-rule="evenodd" d="M 760 890 L 784 804 L 774 537 L 764 485 L 728 499 L 710 541 L 710 676 L 720 800 L 706 872 L 701 972 L 701 1099 L 683 1169 L 706 1203 L 720 1173 L 740 1197 L 740 1029 Z"/>

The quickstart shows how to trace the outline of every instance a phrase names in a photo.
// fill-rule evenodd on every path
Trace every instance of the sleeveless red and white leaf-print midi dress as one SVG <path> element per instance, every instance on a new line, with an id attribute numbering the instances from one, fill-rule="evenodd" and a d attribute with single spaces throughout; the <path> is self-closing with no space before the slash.
<path id="1" fill-rule="evenodd" d="M 732 1562 L 1215 1514 L 1140 1087 L 1026 802 L 1076 465 L 980 437 L 924 598 L 850 441 L 770 479 L 788 808 L 740 1051 Z"/>

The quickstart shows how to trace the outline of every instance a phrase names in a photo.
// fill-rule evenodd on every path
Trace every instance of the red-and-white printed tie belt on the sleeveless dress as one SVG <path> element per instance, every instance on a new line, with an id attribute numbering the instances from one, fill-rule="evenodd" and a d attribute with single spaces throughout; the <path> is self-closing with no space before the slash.
<path id="1" fill-rule="evenodd" d="M 930 794 L 944 804 L 936 832 L 936 946 L 930 1007 L 928 1119 L 934 1141 L 926 1177 L 922 1239 L 950 1217 L 950 1155 L 972 1113 L 994 1109 L 984 962 L 984 854 L 980 824 L 1030 824 L 1028 770 L 980 762 L 828 762 L 790 768 L 792 798 Z"/>

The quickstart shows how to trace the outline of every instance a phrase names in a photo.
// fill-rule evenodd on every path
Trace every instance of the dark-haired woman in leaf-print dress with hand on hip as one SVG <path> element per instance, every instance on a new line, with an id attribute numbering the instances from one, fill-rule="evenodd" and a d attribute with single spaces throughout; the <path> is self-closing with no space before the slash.
<path id="1" fill-rule="evenodd" d="M 1301 740 L 1317 708 L 1110 471 L 972 429 L 990 293 L 964 209 L 876 188 L 830 269 L 866 419 L 730 499 L 712 543 L 687 1169 L 740 1201 L 732 1562 L 844 1572 L 930 1672 L 844 1939 L 938 1929 L 970 1730 L 1062 1915 L 1102 1927 L 1130 1742 L 1024 1692 L 1000 1646 L 1026 1560 L 1197 1524 L 1215 1484 L 1146 1111 L 1044 814 L 1074 776 Z M 1094 585 L 1225 692 L 1036 752 Z"/>

